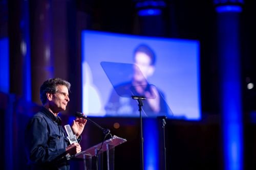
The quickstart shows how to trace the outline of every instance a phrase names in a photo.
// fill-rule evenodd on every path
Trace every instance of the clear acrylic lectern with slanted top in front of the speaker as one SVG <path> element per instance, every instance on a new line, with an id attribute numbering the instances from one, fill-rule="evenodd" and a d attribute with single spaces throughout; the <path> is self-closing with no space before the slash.
<path id="1" fill-rule="evenodd" d="M 103 143 L 98 143 L 93 147 L 82 151 L 75 155 L 75 158 L 83 159 L 83 169 L 84 170 L 94 170 L 92 169 L 92 157 L 97 156 L 98 161 L 96 161 L 95 170 L 103 169 L 103 153 L 106 151 L 106 163 L 108 170 L 114 170 L 114 156 L 115 156 L 115 147 L 119 144 L 126 142 L 126 139 L 120 138 L 118 136 L 113 136 L 110 139 L 105 140 Z"/>

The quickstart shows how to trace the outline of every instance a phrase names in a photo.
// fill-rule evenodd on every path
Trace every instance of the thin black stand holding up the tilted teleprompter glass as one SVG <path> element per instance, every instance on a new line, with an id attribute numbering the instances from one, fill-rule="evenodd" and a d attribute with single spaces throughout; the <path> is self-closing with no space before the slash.
<path id="1" fill-rule="evenodd" d="M 143 133 L 142 133 L 142 115 L 141 110 L 143 106 L 142 100 L 145 100 L 146 98 L 144 96 L 136 96 L 132 95 L 132 99 L 135 99 L 138 101 L 139 106 L 139 112 L 140 112 L 140 163 L 141 163 L 141 169 L 144 170 L 144 155 L 143 155 Z"/>

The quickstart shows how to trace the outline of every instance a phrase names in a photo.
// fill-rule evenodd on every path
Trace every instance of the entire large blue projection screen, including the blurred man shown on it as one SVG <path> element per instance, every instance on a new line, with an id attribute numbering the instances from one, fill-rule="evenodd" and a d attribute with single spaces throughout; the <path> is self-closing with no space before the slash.
<path id="1" fill-rule="evenodd" d="M 200 119 L 199 43 L 82 32 L 82 111 L 89 116 Z"/>

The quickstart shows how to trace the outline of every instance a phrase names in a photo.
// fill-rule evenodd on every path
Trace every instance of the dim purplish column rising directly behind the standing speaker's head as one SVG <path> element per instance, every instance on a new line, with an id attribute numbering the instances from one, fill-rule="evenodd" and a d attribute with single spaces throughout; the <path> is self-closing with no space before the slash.
<path id="1" fill-rule="evenodd" d="M 41 104 L 41 84 L 53 78 L 52 1 L 30 1 L 32 101 Z"/>

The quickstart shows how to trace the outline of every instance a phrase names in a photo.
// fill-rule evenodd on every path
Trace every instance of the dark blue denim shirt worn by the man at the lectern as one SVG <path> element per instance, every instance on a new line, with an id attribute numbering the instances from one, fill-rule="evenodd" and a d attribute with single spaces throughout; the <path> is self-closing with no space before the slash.
<path id="1" fill-rule="evenodd" d="M 61 119 L 42 107 L 25 130 L 26 152 L 31 169 L 69 169 L 67 134 Z"/>

